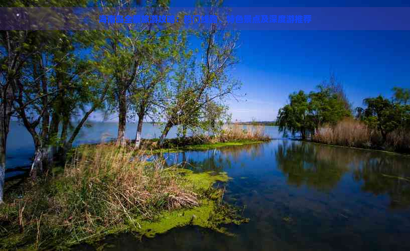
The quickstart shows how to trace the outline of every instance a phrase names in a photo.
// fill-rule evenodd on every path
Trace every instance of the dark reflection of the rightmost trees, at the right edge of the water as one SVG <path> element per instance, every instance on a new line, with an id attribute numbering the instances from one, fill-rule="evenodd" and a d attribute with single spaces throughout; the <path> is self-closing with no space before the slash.
<path id="1" fill-rule="evenodd" d="M 410 205 L 409 161 L 393 155 L 374 155 L 353 171 L 354 179 L 364 181 L 363 191 L 388 194 L 391 208 L 406 208 Z"/>

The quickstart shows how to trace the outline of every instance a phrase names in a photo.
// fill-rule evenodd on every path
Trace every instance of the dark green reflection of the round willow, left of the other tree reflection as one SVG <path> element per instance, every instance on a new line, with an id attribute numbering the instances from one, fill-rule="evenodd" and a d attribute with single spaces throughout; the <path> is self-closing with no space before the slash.
<path id="1" fill-rule="evenodd" d="M 276 151 L 278 167 L 288 175 L 290 184 L 306 184 L 322 191 L 332 189 L 348 171 L 344 158 L 337 151 L 333 153 L 332 148 L 301 142 L 285 141 Z"/>

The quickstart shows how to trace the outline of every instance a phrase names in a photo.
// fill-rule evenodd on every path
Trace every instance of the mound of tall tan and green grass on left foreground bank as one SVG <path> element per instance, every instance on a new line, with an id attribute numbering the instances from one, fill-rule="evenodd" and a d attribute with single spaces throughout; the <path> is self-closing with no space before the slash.
<path id="1" fill-rule="evenodd" d="M 81 242 L 138 224 L 135 218 L 152 220 L 164 210 L 199 205 L 203 195 L 175 167 L 145 158 L 110 144 L 77 148 L 62 173 L 28 182 L 7 198 L 0 207 L 0 233 L 2 239 L 16 236 L 16 243 L 1 244 L 46 248 L 62 240 Z"/>

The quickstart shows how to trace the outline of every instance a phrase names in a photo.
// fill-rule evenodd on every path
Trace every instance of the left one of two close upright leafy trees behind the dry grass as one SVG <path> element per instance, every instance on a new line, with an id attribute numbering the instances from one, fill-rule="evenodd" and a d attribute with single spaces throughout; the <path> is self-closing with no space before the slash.
<path id="1" fill-rule="evenodd" d="M 99 7 L 116 11 L 116 15 L 133 15 L 134 7 L 139 1 L 100 1 Z M 114 7 L 114 8 L 112 8 Z M 149 1 L 146 3 L 145 15 L 166 15 L 169 9 L 168 0 Z M 113 79 L 112 98 L 109 100 L 111 111 L 118 112 L 117 145 L 125 146 L 125 127 L 129 111 L 131 85 L 141 73 L 145 62 L 152 60 L 152 52 L 156 51 L 155 42 L 171 24 L 108 24 L 109 30 L 95 31 L 92 34 L 101 37 L 93 48 L 99 54 L 102 71 L 109 73 Z M 178 24 L 176 24 L 178 26 Z M 152 62 L 152 61 L 151 61 Z"/>

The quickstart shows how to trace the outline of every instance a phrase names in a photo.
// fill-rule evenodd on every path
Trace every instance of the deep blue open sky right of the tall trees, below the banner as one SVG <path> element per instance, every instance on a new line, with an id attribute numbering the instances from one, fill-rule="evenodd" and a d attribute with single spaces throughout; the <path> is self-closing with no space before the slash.
<path id="1" fill-rule="evenodd" d="M 171 0 L 171 6 L 195 2 Z M 225 0 L 224 6 L 410 7 L 410 1 Z M 331 71 L 354 107 L 366 97 L 390 97 L 394 86 L 410 88 L 410 31 L 241 31 L 238 56 L 232 76 L 242 81 L 244 97 L 228 100 L 234 120 L 275 120 L 291 92 L 314 90 Z"/>

